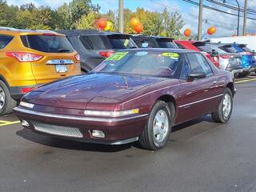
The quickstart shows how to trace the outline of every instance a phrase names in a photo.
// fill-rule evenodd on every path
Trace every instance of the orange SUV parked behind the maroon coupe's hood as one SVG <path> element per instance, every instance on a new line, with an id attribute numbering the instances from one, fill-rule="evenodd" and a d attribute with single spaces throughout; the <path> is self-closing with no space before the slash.
<path id="1" fill-rule="evenodd" d="M 0 27 L 0 115 L 35 87 L 75 74 L 80 57 L 65 35 Z"/>

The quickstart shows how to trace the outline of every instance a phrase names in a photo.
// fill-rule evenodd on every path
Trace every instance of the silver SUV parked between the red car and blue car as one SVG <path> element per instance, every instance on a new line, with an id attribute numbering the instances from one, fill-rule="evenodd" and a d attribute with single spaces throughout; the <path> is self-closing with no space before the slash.
<path id="1" fill-rule="evenodd" d="M 213 42 L 205 42 L 205 44 L 197 45 L 199 50 L 206 51 L 207 53 L 215 52 L 218 55 L 220 69 L 228 70 L 235 76 L 242 74 L 243 66 L 241 64 L 241 55 L 226 52 L 220 48 L 222 46 L 225 45 Z"/>

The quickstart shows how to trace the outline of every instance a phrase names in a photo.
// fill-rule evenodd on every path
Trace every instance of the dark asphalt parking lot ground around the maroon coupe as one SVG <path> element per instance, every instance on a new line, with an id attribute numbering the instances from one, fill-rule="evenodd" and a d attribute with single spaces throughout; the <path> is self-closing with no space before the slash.
<path id="1" fill-rule="evenodd" d="M 0 192 L 256 191 L 256 76 L 236 80 L 227 124 L 174 127 L 163 150 L 50 138 L 0 118 Z"/>

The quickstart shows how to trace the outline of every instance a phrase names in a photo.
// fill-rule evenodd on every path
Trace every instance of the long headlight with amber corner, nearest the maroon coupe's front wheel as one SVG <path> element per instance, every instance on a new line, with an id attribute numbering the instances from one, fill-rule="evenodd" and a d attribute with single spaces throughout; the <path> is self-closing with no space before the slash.
<path id="1" fill-rule="evenodd" d="M 120 110 L 120 111 L 85 110 L 85 115 L 118 118 L 118 117 L 130 115 L 130 114 L 138 114 L 138 111 L 139 109 Z"/>

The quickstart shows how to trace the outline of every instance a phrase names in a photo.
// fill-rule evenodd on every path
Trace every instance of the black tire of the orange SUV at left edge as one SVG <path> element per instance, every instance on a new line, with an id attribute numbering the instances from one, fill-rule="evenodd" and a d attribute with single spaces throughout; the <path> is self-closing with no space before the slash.
<path id="1" fill-rule="evenodd" d="M 4 104 L 0 109 L 0 116 L 5 114 L 11 114 L 14 107 L 17 105 L 17 102 L 10 97 L 10 90 L 6 86 L 6 84 L 0 81 L 0 92 L 3 91 L 4 93 Z M 1 102 L 2 104 L 2 102 Z"/>

